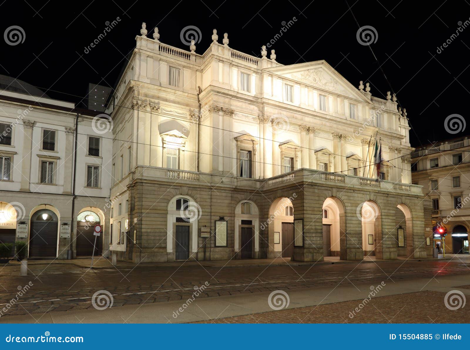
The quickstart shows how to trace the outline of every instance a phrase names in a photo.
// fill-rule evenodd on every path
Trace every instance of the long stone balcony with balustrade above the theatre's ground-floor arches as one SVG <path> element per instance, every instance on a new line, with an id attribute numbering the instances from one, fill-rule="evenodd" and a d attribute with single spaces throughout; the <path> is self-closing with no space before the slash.
<path id="1" fill-rule="evenodd" d="M 157 167 L 139 166 L 133 173 L 133 179 L 156 180 L 181 185 L 229 187 L 245 190 L 264 190 L 291 184 L 310 183 L 338 188 L 355 188 L 367 191 L 393 194 L 411 194 L 422 196 L 422 186 L 362 178 L 359 176 L 330 173 L 312 169 L 298 169 L 269 179 L 245 179 L 232 174 L 209 174 L 196 171 L 183 171 Z"/>

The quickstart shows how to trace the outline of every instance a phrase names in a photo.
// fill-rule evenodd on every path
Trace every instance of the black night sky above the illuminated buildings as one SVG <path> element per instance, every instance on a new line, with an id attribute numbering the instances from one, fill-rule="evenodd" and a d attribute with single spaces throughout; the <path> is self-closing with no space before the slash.
<path id="1" fill-rule="evenodd" d="M 417 147 L 449 134 L 444 121 L 452 114 L 468 118 L 470 99 L 470 3 L 467 1 L 25 1 L 0 0 L 1 32 L 20 26 L 24 42 L 0 40 L 0 74 L 38 86 L 52 98 L 84 107 L 88 83 L 114 87 L 135 46 L 141 23 L 148 37 L 158 27 L 160 41 L 187 49 L 184 27 L 202 35 L 196 53 L 203 54 L 216 28 L 219 42 L 228 32 L 229 46 L 260 56 L 261 45 L 282 31 L 272 46 L 277 61 L 294 64 L 326 60 L 354 86 L 370 82 L 373 96 L 392 90 L 407 109 Z M 425 4 L 425 5 L 424 5 Z M 360 27 L 375 29 L 376 42 L 360 45 Z M 89 53 L 85 47 L 105 31 L 107 21 L 120 21 Z M 465 21 L 469 21 L 465 24 Z M 459 27 L 461 31 L 459 31 Z M 466 27 L 466 28 L 465 28 Z M 452 34 L 459 33 L 451 38 Z M 446 44 L 447 47 L 438 47 Z M 440 51 L 440 53 L 438 53 Z M 270 49 L 268 50 L 268 56 Z M 376 62 L 376 59 L 378 63 Z M 379 66 L 381 68 L 379 68 Z M 384 74 L 388 78 L 384 78 Z M 392 87 L 389 86 L 389 83 Z M 470 125 L 466 125 L 470 128 Z"/>

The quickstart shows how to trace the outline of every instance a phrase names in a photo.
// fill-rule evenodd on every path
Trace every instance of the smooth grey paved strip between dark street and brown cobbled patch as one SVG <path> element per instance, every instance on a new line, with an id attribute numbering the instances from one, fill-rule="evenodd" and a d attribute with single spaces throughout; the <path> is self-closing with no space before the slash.
<path id="1" fill-rule="evenodd" d="M 464 295 L 470 295 L 470 289 L 458 288 L 456 286 L 466 286 L 470 280 L 470 273 L 452 276 L 438 276 L 435 279 L 422 278 L 415 280 L 395 280 L 393 283 L 387 280 L 386 286 L 377 293 L 377 300 L 385 296 L 397 296 L 405 293 L 428 293 L 418 295 L 426 296 L 421 299 L 421 303 L 417 308 L 431 310 L 432 313 L 450 312 L 444 306 L 443 297 L 445 294 L 453 289 L 460 290 Z M 316 305 L 324 305 L 331 303 L 344 303 L 349 302 L 345 309 L 344 317 L 348 316 L 351 311 L 352 305 L 358 305 L 363 299 L 368 298 L 371 288 L 376 287 L 380 283 L 369 282 L 360 284 L 339 285 L 335 288 L 319 287 L 319 288 L 305 288 L 287 290 L 290 303 L 288 309 L 299 307 L 308 307 Z M 234 317 L 240 315 L 259 314 L 261 312 L 272 311 L 268 304 L 268 296 L 270 292 L 252 293 L 247 295 L 234 295 L 234 296 L 219 296 L 219 297 L 206 297 L 197 298 L 191 302 L 183 300 L 164 302 L 164 303 L 149 303 L 140 305 L 124 305 L 121 307 L 111 307 L 105 310 L 95 310 L 90 308 L 87 310 L 76 311 L 57 311 L 45 314 L 33 314 L 25 316 L 4 316 L 0 318 L 1 323 L 185 323 L 195 321 L 207 321 L 212 319 L 220 319 L 227 317 Z M 403 296 L 403 303 L 407 301 L 408 294 Z M 376 298 L 372 300 L 375 301 Z M 399 300 L 400 300 L 399 299 Z M 356 301 L 352 303 L 351 301 Z M 413 302 L 415 303 L 415 301 Z M 90 302 L 91 304 L 91 302 Z M 186 304 L 186 308 L 183 307 Z M 384 303 L 387 307 L 387 303 Z M 404 304 L 405 306 L 405 304 Z M 404 307 L 403 306 L 403 307 Z M 372 308 L 371 305 L 367 306 Z M 181 308 L 182 311 L 178 312 Z M 317 309 L 323 306 L 318 306 Z M 468 313 L 466 309 L 464 312 Z M 276 311 L 279 312 L 279 311 Z M 381 312 L 378 310 L 378 312 Z M 452 311 L 456 312 L 456 311 Z M 454 313 L 457 317 L 461 313 Z M 256 317 L 253 315 L 256 322 Z M 298 317 L 298 316 L 297 316 Z M 326 319 L 326 318 L 325 318 Z M 447 318 L 446 318 L 447 319 Z M 286 318 L 278 318 L 277 322 L 288 321 Z M 331 319 L 329 319 L 331 321 Z M 356 318 L 360 320 L 360 318 Z M 460 322 L 461 319 L 456 318 L 454 322 Z M 462 319 L 463 320 L 463 319 Z M 340 322 L 341 320 L 337 320 Z M 433 322 L 433 320 L 421 319 L 421 322 Z M 362 320 L 367 322 L 367 320 Z M 370 322 L 386 322 L 383 319 L 372 319 Z M 437 321 L 436 321 L 437 322 Z"/>

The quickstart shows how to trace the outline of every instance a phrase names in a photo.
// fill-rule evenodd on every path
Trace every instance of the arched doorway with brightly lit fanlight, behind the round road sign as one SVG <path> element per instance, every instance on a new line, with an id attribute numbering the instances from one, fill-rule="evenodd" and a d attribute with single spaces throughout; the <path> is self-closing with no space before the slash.
<path id="1" fill-rule="evenodd" d="M 94 226 L 101 225 L 98 214 L 91 210 L 82 211 L 77 217 L 77 257 L 88 257 L 93 255 L 94 247 Z M 94 255 L 102 252 L 102 234 L 96 239 Z"/>

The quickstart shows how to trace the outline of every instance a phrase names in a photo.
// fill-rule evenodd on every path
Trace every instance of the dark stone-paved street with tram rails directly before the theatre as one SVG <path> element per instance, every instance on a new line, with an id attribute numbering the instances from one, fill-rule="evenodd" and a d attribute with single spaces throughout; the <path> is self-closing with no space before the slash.
<path id="1" fill-rule="evenodd" d="M 468 265 L 467 265 L 468 264 Z M 219 268 L 200 265 L 145 266 L 90 270 L 73 264 L 34 264 L 31 274 L 19 276 L 19 265 L 0 267 L 0 310 L 25 315 L 93 308 L 95 292 L 106 290 L 113 307 L 185 300 L 196 286 L 209 287 L 199 297 L 314 288 L 338 284 L 429 278 L 470 272 L 468 257 L 452 261 L 378 261 L 353 264 Z M 18 296 L 28 283 L 31 288 Z M 18 300 L 16 300 L 16 298 Z M 1 316 L 1 314 L 0 314 Z M 347 315 L 346 315 L 347 316 Z"/>

